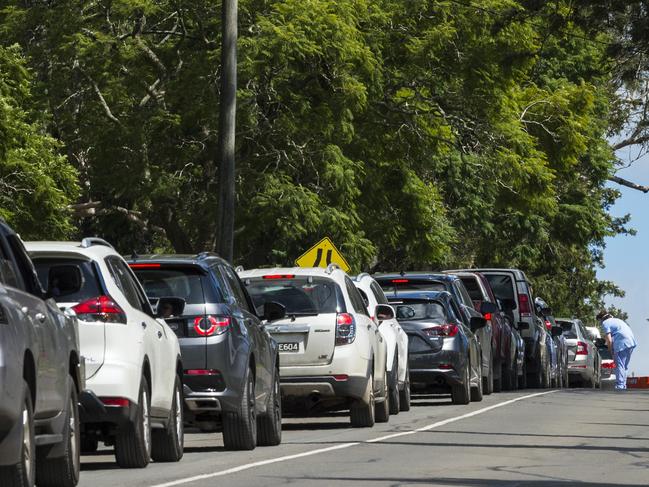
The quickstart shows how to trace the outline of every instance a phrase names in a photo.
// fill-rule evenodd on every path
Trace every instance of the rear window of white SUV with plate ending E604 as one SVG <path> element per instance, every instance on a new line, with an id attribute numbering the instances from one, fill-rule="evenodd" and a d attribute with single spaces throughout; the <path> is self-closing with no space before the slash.
<path id="1" fill-rule="evenodd" d="M 338 285 L 325 277 L 295 276 L 288 279 L 244 279 L 258 310 L 275 301 L 286 314 L 316 315 L 338 312 Z"/>

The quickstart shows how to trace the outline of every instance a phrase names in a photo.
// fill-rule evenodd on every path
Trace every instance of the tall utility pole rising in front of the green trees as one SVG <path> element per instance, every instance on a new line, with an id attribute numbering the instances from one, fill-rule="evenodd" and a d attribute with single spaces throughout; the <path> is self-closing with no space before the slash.
<path id="1" fill-rule="evenodd" d="M 221 6 L 221 103 L 219 113 L 219 206 L 217 251 L 232 262 L 234 254 L 234 137 L 237 114 L 237 0 Z"/>

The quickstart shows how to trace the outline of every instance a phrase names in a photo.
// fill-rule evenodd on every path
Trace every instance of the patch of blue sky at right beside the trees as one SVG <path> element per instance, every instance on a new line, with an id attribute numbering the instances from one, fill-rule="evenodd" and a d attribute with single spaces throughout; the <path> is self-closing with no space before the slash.
<path id="1" fill-rule="evenodd" d="M 625 156 L 625 155 L 624 155 Z M 617 175 L 641 185 L 649 185 L 649 156 L 644 156 L 628 169 Z M 604 249 L 606 267 L 597 277 L 615 282 L 626 291 L 624 298 L 608 298 L 629 314 L 628 324 L 638 342 L 631 356 L 629 372 L 636 376 L 649 376 L 649 193 L 611 183 L 622 192 L 611 209 L 614 216 L 631 215 L 629 227 L 637 231 L 635 236 L 619 235 L 609 238 Z"/>

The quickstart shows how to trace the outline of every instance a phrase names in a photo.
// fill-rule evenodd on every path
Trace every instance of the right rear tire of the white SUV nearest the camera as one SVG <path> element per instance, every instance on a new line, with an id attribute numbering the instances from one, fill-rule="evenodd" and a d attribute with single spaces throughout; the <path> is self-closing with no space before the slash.
<path id="1" fill-rule="evenodd" d="M 122 468 L 144 468 L 151 461 L 151 396 L 142 376 L 135 421 L 121 427 L 115 436 L 115 459 Z"/>

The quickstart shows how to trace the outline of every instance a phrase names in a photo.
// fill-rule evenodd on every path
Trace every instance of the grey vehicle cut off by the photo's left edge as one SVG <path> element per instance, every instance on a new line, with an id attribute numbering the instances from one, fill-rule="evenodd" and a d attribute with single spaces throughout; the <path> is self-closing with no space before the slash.
<path id="1" fill-rule="evenodd" d="M 79 480 L 76 318 L 45 293 L 20 238 L 0 220 L 0 485 Z"/>

